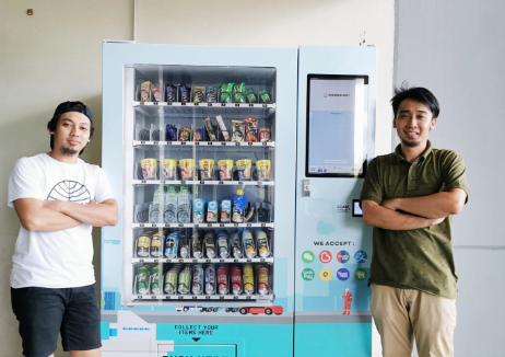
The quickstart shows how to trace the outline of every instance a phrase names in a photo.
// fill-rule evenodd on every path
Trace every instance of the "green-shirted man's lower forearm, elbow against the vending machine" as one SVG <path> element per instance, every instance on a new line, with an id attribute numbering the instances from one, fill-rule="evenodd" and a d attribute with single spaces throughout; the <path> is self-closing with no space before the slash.
<path id="1" fill-rule="evenodd" d="M 377 203 L 364 199 L 362 203 L 363 221 L 366 226 L 403 231 L 439 224 L 445 218 L 427 219 L 412 215 L 402 215 L 395 210 L 387 209 Z"/>

